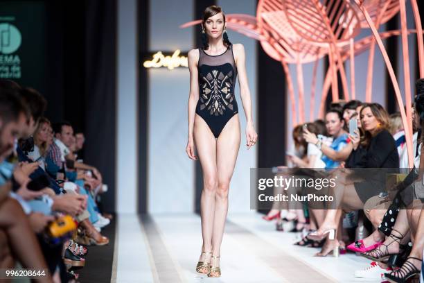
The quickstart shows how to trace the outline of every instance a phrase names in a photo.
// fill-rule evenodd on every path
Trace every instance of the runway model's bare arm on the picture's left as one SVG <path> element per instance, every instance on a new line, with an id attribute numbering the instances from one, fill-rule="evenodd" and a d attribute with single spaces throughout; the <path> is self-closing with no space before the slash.
<path id="1" fill-rule="evenodd" d="M 192 49 L 188 52 L 188 70 L 190 71 L 190 94 L 188 95 L 188 141 L 186 152 L 188 157 L 196 160 L 194 154 L 193 126 L 195 110 L 199 100 L 199 82 L 197 81 L 197 61 L 199 60 L 199 50 Z"/>

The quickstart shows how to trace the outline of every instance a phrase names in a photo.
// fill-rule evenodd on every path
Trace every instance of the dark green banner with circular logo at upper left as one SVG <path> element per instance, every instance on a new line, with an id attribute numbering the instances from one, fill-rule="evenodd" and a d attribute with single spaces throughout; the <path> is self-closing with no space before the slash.
<path id="1" fill-rule="evenodd" d="M 44 1 L 0 1 L 0 78 L 44 92 Z"/>

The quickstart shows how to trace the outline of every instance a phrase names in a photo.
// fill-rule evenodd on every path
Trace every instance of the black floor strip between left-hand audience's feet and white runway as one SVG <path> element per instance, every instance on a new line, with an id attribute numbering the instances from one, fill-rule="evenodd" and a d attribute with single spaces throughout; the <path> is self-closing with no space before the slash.
<path id="1" fill-rule="evenodd" d="M 114 216 L 114 219 L 117 216 Z M 85 267 L 76 273 L 80 274 L 81 283 L 109 283 L 112 277 L 114 261 L 116 221 L 112 220 L 109 225 L 102 229 L 102 234 L 109 238 L 107 246 L 89 246 Z"/>

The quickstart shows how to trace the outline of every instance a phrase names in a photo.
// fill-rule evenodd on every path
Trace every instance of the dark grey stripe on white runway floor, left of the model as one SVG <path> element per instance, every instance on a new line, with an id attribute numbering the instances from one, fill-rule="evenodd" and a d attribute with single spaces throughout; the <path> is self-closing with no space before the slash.
<path id="1" fill-rule="evenodd" d="M 154 220 L 148 214 L 142 214 L 140 217 L 141 225 L 145 230 L 145 235 L 148 239 L 154 266 L 157 270 L 160 283 L 179 283 L 182 282 L 177 268 L 172 261 L 165 244 L 159 236 L 159 230 L 154 224 Z"/>

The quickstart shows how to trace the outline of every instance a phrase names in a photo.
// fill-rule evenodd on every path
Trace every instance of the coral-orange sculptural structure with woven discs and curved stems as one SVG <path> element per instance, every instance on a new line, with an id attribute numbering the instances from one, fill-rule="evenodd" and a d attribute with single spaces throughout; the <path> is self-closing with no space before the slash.
<path id="1" fill-rule="evenodd" d="M 391 83 L 394 86 L 396 101 L 403 120 L 407 138 L 409 166 L 412 167 L 412 111 L 404 105 L 411 105 L 412 92 L 409 80 L 409 53 L 407 35 L 416 33 L 419 59 L 419 74 L 424 78 L 423 31 L 416 0 L 410 0 L 414 12 L 416 30 L 407 29 L 405 0 L 260 0 L 256 17 L 244 14 L 227 15 L 227 28 L 252 37 L 260 42 L 263 50 L 274 60 L 281 62 L 285 71 L 292 108 L 292 123 L 305 121 L 305 101 L 302 65 L 315 62 L 312 71 L 312 88 L 310 99 L 310 119 L 313 119 L 315 105 L 315 85 L 317 80 L 317 63 L 328 55 L 328 70 L 324 78 L 321 105 L 318 117 L 324 114 L 328 90 L 331 87 L 333 101 L 339 99 L 338 77 L 341 78 L 344 98 L 355 98 L 355 55 L 369 50 L 368 74 L 366 77 L 365 101 L 371 102 L 373 62 L 378 46 L 385 60 Z M 378 27 L 400 13 L 400 31 L 378 33 Z M 200 24 L 201 20 L 188 22 L 186 28 Z M 369 28 L 373 35 L 355 41 L 362 28 Z M 405 103 L 398 85 L 394 69 L 382 43 L 387 37 L 400 35 L 403 51 L 403 76 L 405 81 Z M 344 69 L 344 62 L 350 60 L 350 85 Z M 297 95 L 294 94 L 294 82 L 289 65 L 296 65 Z M 299 101 L 296 101 L 296 97 Z M 296 103 L 298 102 L 298 103 Z M 298 109 L 296 109 L 298 105 Z M 298 111 L 297 111 L 298 110 Z M 299 113 L 297 119 L 296 113 Z"/>

